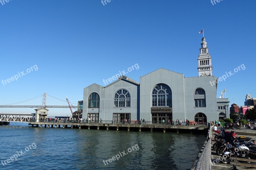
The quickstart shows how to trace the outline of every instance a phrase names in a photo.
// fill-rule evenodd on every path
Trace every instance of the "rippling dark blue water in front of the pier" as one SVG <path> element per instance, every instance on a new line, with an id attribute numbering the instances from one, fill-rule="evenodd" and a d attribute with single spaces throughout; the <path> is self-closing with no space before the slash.
<path id="1" fill-rule="evenodd" d="M 0 169 L 26 170 L 190 169 L 206 139 L 202 134 L 32 128 L 12 122 L 0 126 L 0 135 Z M 5 165 L 12 156 L 17 160 Z"/>

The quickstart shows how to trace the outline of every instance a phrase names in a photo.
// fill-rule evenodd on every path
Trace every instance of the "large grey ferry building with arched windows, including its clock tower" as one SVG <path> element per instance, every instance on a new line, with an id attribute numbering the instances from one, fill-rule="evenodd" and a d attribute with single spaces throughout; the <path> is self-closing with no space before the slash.
<path id="1" fill-rule="evenodd" d="M 107 86 L 84 88 L 83 118 L 145 119 L 156 124 L 169 119 L 202 123 L 228 118 L 228 99 L 216 98 L 218 78 L 212 75 L 212 58 L 204 37 L 197 60 L 198 77 L 185 78 L 182 73 L 160 68 L 140 77 L 140 82 L 120 76 Z"/>

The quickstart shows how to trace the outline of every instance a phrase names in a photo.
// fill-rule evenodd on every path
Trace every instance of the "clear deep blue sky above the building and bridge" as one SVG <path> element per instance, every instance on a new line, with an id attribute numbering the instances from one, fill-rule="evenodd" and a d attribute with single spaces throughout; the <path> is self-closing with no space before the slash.
<path id="1" fill-rule="evenodd" d="M 2 0 L 3 1 L 3 0 Z M 36 65 L 26 75 L 0 84 L 0 105 L 47 94 L 77 103 L 84 87 L 138 64 L 126 76 L 159 68 L 197 77 L 197 57 L 204 28 L 213 75 L 221 77 L 244 64 L 244 70 L 218 84 L 230 104 L 244 105 L 255 92 L 254 0 L 12 0 L 0 4 L 0 80 Z M 224 95 L 225 97 L 225 95 Z M 49 100 L 48 100 L 49 99 Z M 50 97 L 47 105 L 54 103 Z M 38 99 L 34 105 L 41 105 Z M 34 113 L 33 108 L 0 108 Z M 50 109 L 50 115 L 70 115 Z"/>

